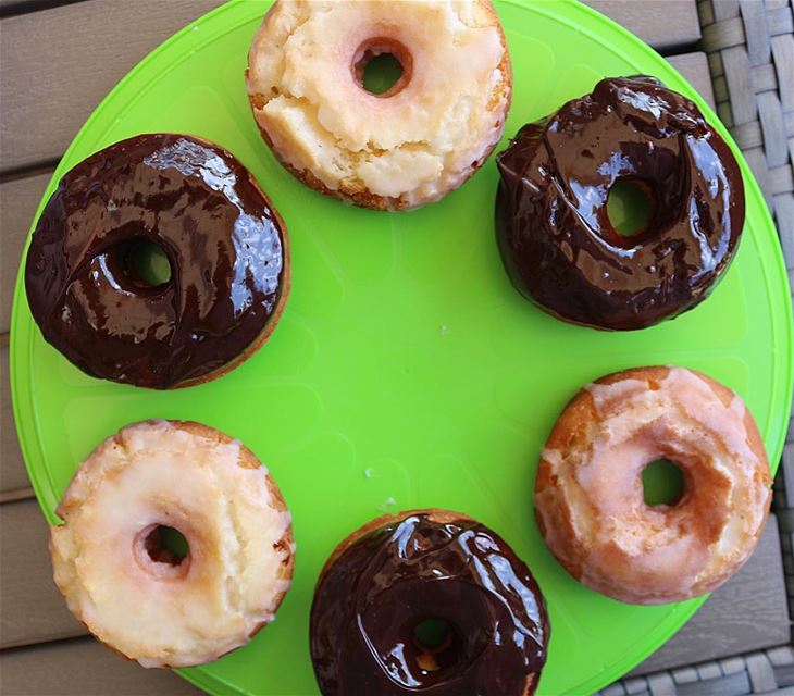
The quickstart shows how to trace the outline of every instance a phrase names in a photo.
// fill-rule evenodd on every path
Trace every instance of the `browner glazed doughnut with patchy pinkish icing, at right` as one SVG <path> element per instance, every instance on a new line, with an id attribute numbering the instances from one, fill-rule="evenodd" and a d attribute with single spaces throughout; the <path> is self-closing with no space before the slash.
<path id="1" fill-rule="evenodd" d="M 642 472 L 666 459 L 683 492 L 647 505 Z M 747 560 L 772 480 L 753 415 L 683 368 L 637 368 L 584 387 L 549 435 L 535 482 L 543 537 L 583 585 L 628 604 L 682 601 Z"/>

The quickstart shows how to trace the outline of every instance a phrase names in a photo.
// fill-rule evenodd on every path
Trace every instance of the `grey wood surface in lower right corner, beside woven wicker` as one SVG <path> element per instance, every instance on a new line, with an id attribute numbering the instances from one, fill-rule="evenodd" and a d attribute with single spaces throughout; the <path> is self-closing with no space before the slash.
<path id="1" fill-rule="evenodd" d="M 647 674 L 790 641 L 780 536 L 769 518 L 758 548 L 693 619 L 631 674 Z"/>

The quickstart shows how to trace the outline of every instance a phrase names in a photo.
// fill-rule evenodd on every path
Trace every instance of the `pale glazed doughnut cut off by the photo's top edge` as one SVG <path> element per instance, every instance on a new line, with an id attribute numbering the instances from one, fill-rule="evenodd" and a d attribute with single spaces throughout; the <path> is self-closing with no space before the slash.
<path id="1" fill-rule="evenodd" d="M 369 61 L 399 79 L 377 95 Z M 246 73 L 275 158 L 307 186 L 364 208 L 401 210 L 462 185 L 501 138 L 511 69 L 489 0 L 277 0 Z"/>

